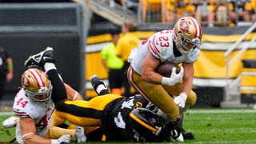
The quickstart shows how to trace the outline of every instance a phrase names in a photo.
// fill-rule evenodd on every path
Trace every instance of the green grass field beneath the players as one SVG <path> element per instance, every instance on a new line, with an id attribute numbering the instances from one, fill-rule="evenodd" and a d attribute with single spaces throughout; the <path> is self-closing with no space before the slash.
<path id="1" fill-rule="evenodd" d="M 10 116 L 6 113 L 0 115 L 0 122 Z M 195 136 L 194 140 L 186 143 L 253 144 L 256 143 L 256 110 L 192 109 L 186 112 L 183 127 Z M 14 138 L 14 128 L 3 129 L 0 126 L 0 135 L 0 142 L 9 141 Z"/>

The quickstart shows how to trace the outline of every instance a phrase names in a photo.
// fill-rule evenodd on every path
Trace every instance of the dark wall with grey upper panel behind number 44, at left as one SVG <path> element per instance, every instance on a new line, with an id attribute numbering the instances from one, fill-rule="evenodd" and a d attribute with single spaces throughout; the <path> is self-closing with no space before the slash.
<path id="1" fill-rule="evenodd" d="M 64 82 L 84 92 L 82 7 L 76 3 L 10 3 L 0 5 L 0 46 L 14 62 L 14 78 L 6 84 L 3 105 L 12 105 L 21 86 L 24 62 L 46 46 L 54 48 Z"/>

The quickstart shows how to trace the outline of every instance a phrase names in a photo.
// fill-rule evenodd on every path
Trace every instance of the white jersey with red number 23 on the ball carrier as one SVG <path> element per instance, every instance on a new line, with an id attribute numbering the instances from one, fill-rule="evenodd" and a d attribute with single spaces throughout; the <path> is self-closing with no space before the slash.
<path id="1" fill-rule="evenodd" d="M 172 30 L 162 30 L 152 35 L 149 39 L 142 41 L 138 48 L 130 54 L 131 67 L 141 74 L 142 62 L 146 58 L 146 54 L 150 53 L 154 58 L 158 58 L 161 62 L 174 62 L 174 63 L 193 63 L 197 60 L 200 50 L 193 49 L 186 55 L 182 54 L 179 57 L 174 56 L 174 33 Z M 131 58 L 132 57 L 132 58 Z"/>

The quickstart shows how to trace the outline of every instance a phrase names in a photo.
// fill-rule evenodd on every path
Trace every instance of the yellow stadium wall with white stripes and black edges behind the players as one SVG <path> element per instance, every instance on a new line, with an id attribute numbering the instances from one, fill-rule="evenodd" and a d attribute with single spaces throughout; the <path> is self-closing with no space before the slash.
<path id="1" fill-rule="evenodd" d="M 90 30 L 90 36 L 86 43 L 86 96 L 96 95 L 89 83 L 89 78 L 93 74 L 98 74 L 107 83 L 107 72 L 102 66 L 100 51 L 110 42 L 111 30 L 118 30 L 119 27 L 110 26 L 100 28 L 100 30 Z M 153 26 L 154 27 L 154 26 Z M 159 29 L 159 27 L 161 29 Z M 141 40 L 149 38 L 158 30 L 165 30 L 168 26 L 155 26 L 150 29 L 138 27 L 134 32 Z M 226 59 L 224 53 L 234 42 L 238 40 L 248 29 L 247 26 L 234 27 L 203 27 L 202 52 L 198 60 L 194 63 L 194 91 L 198 94 L 198 106 L 220 106 L 226 85 Z M 104 29 L 104 30 L 103 30 Z M 102 31 L 102 33 L 101 33 Z M 249 34 L 246 39 L 231 54 L 232 58 L 238 50 L 256 35 L 256 30 Z M 242 73 L 242 60 L 256 59 L 256 42 L 249 46 L 240 58 L 230 66 L 229 76 L 231 79 L 237 78 Z"/>

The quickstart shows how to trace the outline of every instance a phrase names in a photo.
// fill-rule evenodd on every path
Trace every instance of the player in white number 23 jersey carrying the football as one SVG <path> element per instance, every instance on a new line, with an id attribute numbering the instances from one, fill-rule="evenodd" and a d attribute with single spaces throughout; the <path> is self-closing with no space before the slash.
<path id="1" fill-rule="evenodd" d="M 188 107 L 194 106 L 197 98 L 192 81 L 201 44 L 202 27 L 196 19 L 178 19 L 173 30 L 155 33 L 132 51 L 127 73 L 130 85 L 170 119 L 182 122 L 179 118 Z M 180 72 L 176 74 L 173 68 L 170 77 L 156 73 L 155 69 L 166 61 L 182 63 Z"/>

